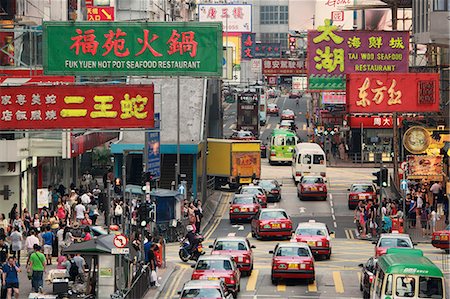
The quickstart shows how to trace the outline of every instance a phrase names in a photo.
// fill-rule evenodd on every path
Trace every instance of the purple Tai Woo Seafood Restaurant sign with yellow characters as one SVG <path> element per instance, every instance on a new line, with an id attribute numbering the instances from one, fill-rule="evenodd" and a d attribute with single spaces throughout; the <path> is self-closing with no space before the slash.
<path id="1" fill-rule="evenodd" d="M 407 73 L 408 51 L 406 31 L 340 31 L 327 19 L 308 31 L 309 89 L 341 89 L 345 74 L 351 73 Z M 341 81 L 316 82 L 323 78 Z"/>

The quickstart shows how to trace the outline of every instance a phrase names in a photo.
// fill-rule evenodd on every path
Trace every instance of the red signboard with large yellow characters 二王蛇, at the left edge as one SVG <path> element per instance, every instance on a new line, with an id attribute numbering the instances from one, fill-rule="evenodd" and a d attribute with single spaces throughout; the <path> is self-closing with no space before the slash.
<path id="1" fill-rule="evenodd" d="M 153 127 L 153 85 L 0 88 L 1 129 Z"/>

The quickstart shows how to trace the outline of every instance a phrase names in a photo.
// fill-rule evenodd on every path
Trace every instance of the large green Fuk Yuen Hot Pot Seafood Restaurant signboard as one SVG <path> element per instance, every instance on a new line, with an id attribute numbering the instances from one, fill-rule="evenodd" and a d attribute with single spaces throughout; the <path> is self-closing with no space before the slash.
<path id="1" fill-rule="evenodd" d="M 46 75 L 222 76 L 222 23 L 44 22 Z"/>

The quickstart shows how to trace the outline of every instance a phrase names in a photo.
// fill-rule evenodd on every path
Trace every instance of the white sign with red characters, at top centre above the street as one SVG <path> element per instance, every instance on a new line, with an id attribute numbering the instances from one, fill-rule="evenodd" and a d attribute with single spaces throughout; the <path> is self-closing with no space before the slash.
<path id="1" fill-rule="evenodd" d="M 200 22 L 221 22 L 224 32 L 252 32 L 250 4 L 199 4 Z"/>

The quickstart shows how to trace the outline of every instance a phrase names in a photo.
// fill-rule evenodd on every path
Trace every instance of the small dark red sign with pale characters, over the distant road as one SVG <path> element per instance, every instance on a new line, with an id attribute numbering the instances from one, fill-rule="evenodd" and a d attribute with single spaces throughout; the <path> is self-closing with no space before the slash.
<path id="1" fill-rule="evenodd" d="M 306 68 L 303 61 L 289 58 L 265 58 L 263 59 L 264 75 L 299 75 L 305 74 Z"/>

